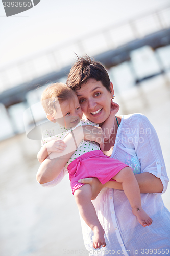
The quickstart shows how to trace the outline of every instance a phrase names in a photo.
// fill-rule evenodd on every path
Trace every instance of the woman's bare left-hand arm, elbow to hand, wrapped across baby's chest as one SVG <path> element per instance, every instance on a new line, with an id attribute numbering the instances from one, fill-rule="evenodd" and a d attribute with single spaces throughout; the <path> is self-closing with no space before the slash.
<path id="1" fill-rule="evenodd" d="M 103 132 L 100 127 L 79 126 L 63 140 L 67 146 L 64 152 L 52 152 L 42 162 L 37 172 L 37 181 L 44 184 L 56 179 L 82 139 L 98 142 L 101 149 L 104 149 Z"/>

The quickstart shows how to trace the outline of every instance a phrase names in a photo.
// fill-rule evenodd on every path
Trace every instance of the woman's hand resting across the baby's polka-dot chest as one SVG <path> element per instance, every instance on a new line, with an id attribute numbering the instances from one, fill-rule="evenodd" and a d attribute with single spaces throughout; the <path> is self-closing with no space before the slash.
<path id="1" fill-rule="evenodd" d="M 104 150 L 104 138 L 105 133 L 103 132 L 101 127 L 96 127 L 92 125 L 84 125 L 82 126 L 83 133 L 84 133 L 84 139 L 85 140 L 91 140 L 99 143 L 101 150 Z"/>

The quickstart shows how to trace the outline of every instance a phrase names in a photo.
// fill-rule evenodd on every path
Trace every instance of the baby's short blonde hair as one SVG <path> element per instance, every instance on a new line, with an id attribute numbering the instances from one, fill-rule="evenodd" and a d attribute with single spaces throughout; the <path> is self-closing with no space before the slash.
<path id="1" fill-rule="evenodd" d="M 50 84 L 41 95 L 41 104 L 46 115 L 50 114 L 52 116 L 56 113 L 56 105 L 55 103 L 63 102 L 72 97 L 74 91 L 72 91 L 66 84 L 64 83 L 53 83 Z"/>

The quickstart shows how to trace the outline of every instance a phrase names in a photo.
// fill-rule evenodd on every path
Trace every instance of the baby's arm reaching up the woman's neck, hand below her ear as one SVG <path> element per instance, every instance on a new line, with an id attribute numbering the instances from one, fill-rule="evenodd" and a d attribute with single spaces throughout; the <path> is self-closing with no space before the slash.
<path id="1" fill-rule="evenodd" d="M 119 105 L 111 100 L 110 115 L 109 115 L 108 119 L 101 126 L 102 130 L 105 133 L 105 138 L 104 138 L 105 141 L 109 140 L 109 138 L 113 132 L 115 114 L 118 112 L 118 110 L 119 110 Z"/>

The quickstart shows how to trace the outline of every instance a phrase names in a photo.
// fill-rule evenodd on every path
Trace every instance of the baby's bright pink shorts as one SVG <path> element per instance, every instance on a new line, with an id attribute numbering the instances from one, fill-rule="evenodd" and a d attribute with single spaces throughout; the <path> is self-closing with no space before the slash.
<path id="1" fill-rule="evenodd" d="M 105 184 L 114 177 L 120 170 L 128 165 L 106 156 L 101 150 L 87 152 L 72 161 L 68 167 L 69 180 L 71 181 L 72 194 L 84 184 L 78 180 L 89 177 L 96 177 L 102 184 Z"/>

